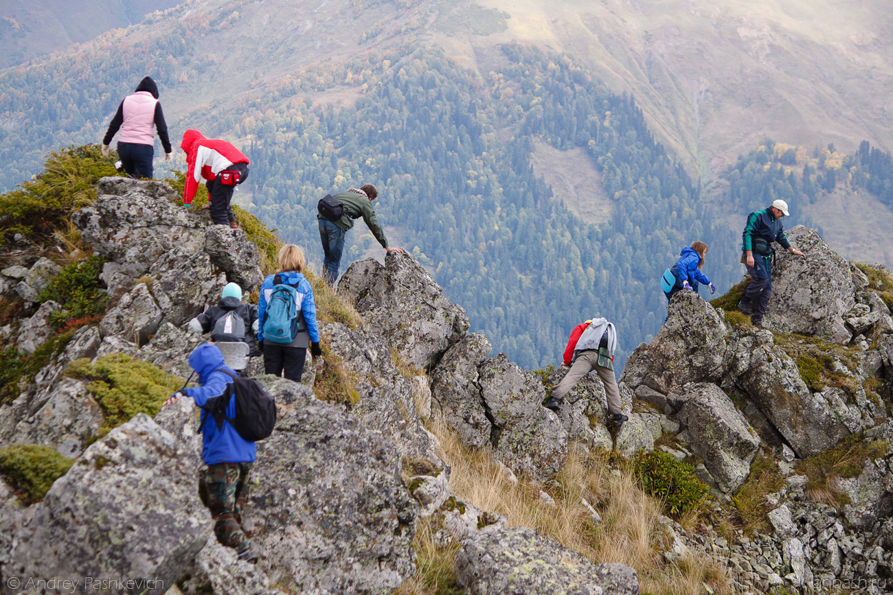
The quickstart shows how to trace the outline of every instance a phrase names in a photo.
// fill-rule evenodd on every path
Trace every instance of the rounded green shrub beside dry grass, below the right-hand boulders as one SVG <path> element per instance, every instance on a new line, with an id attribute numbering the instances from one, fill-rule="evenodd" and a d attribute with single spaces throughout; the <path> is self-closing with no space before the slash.
<path id="1" fill-rule="evenodd" d="M 642 489 L 663 500 L 663 509 L 672 516 L 696 510 L 710 492 L 694 466 L 661 450 L 639 452 L 632 469 Z"/>

